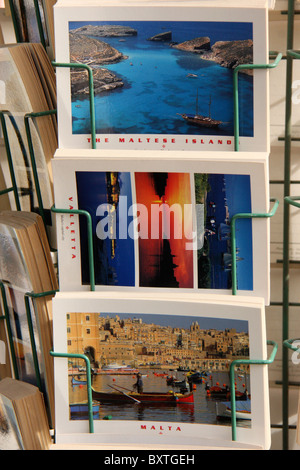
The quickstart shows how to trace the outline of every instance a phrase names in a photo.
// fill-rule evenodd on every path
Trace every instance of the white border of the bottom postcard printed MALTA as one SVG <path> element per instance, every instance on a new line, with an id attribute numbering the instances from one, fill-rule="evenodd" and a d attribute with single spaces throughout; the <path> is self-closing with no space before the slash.
<path id="1" fill-rule="evenodd" d="M 252 302 L 252 303 L 251 303 Z M 266 359 L 267 343 L 265 312 L 262 299 L 223 298 L 214 303 L 210 296 L 196 299 L 195 296 L 158 296 L 156 299 L 142 295 L 116 296 L 90 292 L 68 295 L 59 293 L 53 299 L 54 351 L 67 353 L 66 314 L 71 312 L 110 312 L 185 315 L 201 317 L 231 318 L 247 320 L 249 323 L 250 359 Z M 97 444 L 148 444 L 148 445 L 213 445 L 218 446 L 232 439 L 231 426 L 185 424 L 140 421 L 94 421 L 94 434 L 89 433 L 88 421 L 69 420 L 68 406 L 68 360 L 55 358 L 56 442 Z M 251 380 L 251 428 L 237 427 L 237 442 L 269 448 L 269 396 L 268 371 L 266 365 L 252 365 Z M 141 423 L 146 426 L 141 430 Z M 153 429 L 155 427 L 155 430 Z M 170 426 L 171 429 L 167 430 Z M 152 429 L 151 429 L 152 427 Z M 181 431 L 176 434 L 176 429 Z M 165 431 L 165 432 L 164 432 Z M 168 432 L 167 432 L 168 431 Z M 161 434 L 162 432 L 162 434 Z M 233 443 L 234 446 L 234 443 Z"/>

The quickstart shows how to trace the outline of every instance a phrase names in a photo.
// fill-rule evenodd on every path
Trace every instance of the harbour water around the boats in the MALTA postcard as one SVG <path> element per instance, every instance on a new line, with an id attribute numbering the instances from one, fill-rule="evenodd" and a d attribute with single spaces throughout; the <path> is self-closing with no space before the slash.
<path id="1" fill-rule="evenodd" d="M 166 377 L 159 374 L 165 372 L 168 375 L 175 375 L 177 380 L 181 380 L 185 376 L 185 372 L 177 372 L 167 369 L 140 369 L 143 374 L 144 392 L 178 392 L 179 388 L 173 388 L 167 385 Z M 156 375 L 157 374 L 157 375 Z M 83 380 L 85 376 L 81 377 Z M 85 385 L 72 386 L 72 379 L 69 377 L 70 387 L 70 402 L 82 402 L 87 400 L 87 389 Z M 136 382 L 135 375 L 96 375 L 92 378 L 92 386 L 95 390 L 114 392 L 112 387 L 124 387 L 128 390 L 133 390 L 133 385 Z M 236 390 L 240 392 L 250 391 L 249 375 L 244 372 L 236 372 Z M 222 420 L 217 418 L 217 403 L 220 399 L 215 399 L 207 396 L 206 383 L 210 386 L 216 385 L 220 387 L 230 385 L 228 372 L 210 372 L 205 377 L 203 383 L 194 384 L 194 403 L 193 404 L 179 404 L 179 405 L 140 405 L 132 401 L 132 403 L 100 403 L 99 416 L 96 419 L 105 419 L 109 417 L 113 420 L 137 420 L 137 421 L 162 421 L 162 422 L 176 422 L 176 423 L 202 423 L 202 424 L 215 424 L 215 425 L 231 425 L 231 421 Z M 125 393 L 126 390 L 123 390 Z M 87 416 L 81 416 L 80 419 L 88 419 Z M 249 427 L 251 421 L 238 420 L 238 426 Z"/>

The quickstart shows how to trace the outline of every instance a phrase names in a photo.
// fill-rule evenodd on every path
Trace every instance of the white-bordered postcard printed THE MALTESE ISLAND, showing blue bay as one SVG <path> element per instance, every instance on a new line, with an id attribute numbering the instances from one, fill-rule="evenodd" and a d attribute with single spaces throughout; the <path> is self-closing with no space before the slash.
<path id="1" fill-rule="evenodd" d="M 60 148 L 234 149 L 234 69 L 268 63 L 267 7 L 58 2 Z M 242 2 L 243 4 L 243 2 Z M 268 71 L 238 72 L 239 149 L 269 151 Z"/>

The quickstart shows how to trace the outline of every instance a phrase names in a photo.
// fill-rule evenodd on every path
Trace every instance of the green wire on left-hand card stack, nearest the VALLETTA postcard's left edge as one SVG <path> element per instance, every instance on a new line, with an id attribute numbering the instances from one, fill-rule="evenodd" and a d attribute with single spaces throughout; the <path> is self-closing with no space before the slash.
<path id="1" fill-rule="evenodd" d="M 39 183 L 39 177 L 38 177 L 38 171 L 37 171 L 36 160 L 35 160 L 35 155 L 34 155 L 34 148 L 33 148 L 33 143 L 32 143 L 32 135 L 30 131 L 29 121 L 34 120 L 38 117 L 52 116 L 52 115 L 55 115 L 56 113 L 57 113 L 56 109 L 52 109 L 49 111 L 42 111 L 39 113 L 27 113 L 24 116 L 25 131 L 26 131 L 26 136 L 27 136 L 27 143 L 28 143 L 28 149 L 29 149 L 29 155 L 30 155 L 30 161 L 31 161 L 31 169 L 32 169 L 32 174 L 33 174 L 33 179 L 34 179 L 36 196 L 38 200 L 39 212 L 40 212 L 40 215 L 43 219 L 45 226 L 47 225 L 46 217 L 45 217 L 45 211 L 44 211 L 44 206 L 43 206 L 42 192 L 41 192 L 41 187 Z"/>

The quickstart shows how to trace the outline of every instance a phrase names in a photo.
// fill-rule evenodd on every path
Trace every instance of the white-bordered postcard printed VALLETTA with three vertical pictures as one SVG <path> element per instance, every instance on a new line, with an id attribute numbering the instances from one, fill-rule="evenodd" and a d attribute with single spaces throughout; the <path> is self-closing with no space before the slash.
<path id="1" fill-rule="evenodd" d="M 243 155 L 230 163 L 223 157 L 176 162 L 173 152 L 164 155 L 159 162 L 148 155 L 139 164 L 120 152 L 107 159 L 53 159 L 56 206 L 91 218 L 95 288 L 230 293 L 231 219 L 266 211 L 264 163 L 251 169 L 240 165 Z M 88 290 L 87 219 L 65 214 L 56 222 L 60 288 Z M 240 219 L 235 240 L 239 293 L 265 296 L 267 221 Z"/>

